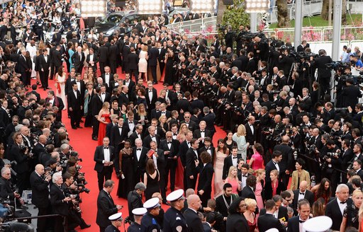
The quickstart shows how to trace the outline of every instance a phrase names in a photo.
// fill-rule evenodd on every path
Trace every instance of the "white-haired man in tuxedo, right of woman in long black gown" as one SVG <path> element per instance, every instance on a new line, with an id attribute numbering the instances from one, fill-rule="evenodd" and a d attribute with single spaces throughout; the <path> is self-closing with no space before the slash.
<path id="1" fill-rule="evenodd" d="M 135 185 L 144 178 L 145 163 L 147 161 L 146 154 L 148 150 L 149 149 L 143 146 L 143 140 L 135 139 L 135 148 L 133 149 L 133 170 L 135 172 Z"/>

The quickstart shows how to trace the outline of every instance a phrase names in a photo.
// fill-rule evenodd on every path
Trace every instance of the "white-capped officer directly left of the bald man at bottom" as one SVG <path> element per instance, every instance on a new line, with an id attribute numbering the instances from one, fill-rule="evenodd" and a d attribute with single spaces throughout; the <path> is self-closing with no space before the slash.
<path id="1" fill-rule="evenodd" d="M 167 201 L 172 207 L 164 214 L 164 232 L 188 231 L 184 216 L 181 214 L 185 200 L 183 195 L 184 190 L 175 190 L 167 195 Z"/>

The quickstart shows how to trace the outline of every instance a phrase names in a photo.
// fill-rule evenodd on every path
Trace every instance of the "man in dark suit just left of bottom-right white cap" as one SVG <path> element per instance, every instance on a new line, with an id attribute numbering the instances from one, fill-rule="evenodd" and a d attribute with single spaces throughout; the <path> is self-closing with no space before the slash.
<path id="1" fill-rule="evenodd" d="M 302 231 L 302 224 L 310 219 L 310 204 L 306 200 L 298 202 L 298 216 L 289 219 L 287 225 L 287 232 L 300 232 Z"/>

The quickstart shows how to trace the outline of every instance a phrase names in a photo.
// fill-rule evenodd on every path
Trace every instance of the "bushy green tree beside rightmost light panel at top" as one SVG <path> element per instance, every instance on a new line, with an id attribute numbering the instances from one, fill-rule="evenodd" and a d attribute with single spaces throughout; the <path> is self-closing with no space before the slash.
<path id="1" fill-rule="evenodd" d="M 218 0 L 218 5 L 223 4 L 222 0 Z M 218 15 L 223 13 L 221 23 L 223 25 L 232 25 L 233 30 L 239 28 L 240 25 L 250 25 L 250 14 L 245 12 L 244 0 L 233 0 L 233 5 L 224 6 L 225 11 L 218 11 Z M 219 10 L 218 6 L 218 10 Z M 217 16 L 218 17 L 218 16 Z M 218 24 L 218 19 L 217 19 Z"/>

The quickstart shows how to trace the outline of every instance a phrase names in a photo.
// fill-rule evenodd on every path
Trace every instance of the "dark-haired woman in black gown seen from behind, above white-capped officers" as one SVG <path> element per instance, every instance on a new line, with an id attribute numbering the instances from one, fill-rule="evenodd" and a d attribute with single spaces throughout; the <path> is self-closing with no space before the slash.
<path id="1" fill-rule="evenodd" d="M 144 184 L 146 185 L 145 200 L 150 199 L 154 192 L 160 192 L 159 181 L 159 170 L 155 168 L 154 160 L 150 158 L 146 162 L 146 173 L 144 173 Z"/>

